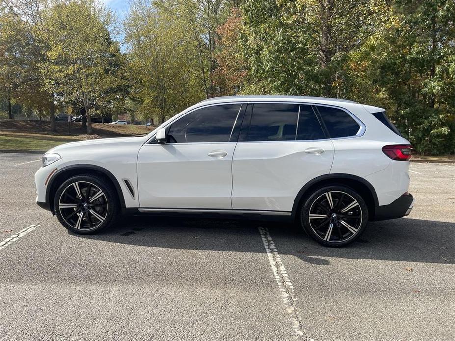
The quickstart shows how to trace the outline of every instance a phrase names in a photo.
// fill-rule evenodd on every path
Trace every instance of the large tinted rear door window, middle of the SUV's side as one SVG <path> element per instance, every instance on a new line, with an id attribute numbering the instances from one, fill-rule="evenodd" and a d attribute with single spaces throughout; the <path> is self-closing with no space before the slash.
<path id="1" fill-rule="evenodd" d="M 298 104 L 253 105 L 247 141 L 295 140 Z"/>

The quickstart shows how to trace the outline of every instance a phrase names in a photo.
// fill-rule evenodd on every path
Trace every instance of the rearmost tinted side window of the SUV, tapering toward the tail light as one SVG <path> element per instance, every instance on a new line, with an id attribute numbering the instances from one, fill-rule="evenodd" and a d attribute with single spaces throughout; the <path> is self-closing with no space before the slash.
<path id="1" fill-rule="evenodd" d="M 331 138 L 353 136 L 359 131 L 359 124 L 344 110 L 323 106 L 317 108 Z"/>

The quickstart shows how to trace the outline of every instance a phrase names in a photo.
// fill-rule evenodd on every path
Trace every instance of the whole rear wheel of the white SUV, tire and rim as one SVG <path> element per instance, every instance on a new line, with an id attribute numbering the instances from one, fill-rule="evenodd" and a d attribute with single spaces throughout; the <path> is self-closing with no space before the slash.
<path id="1" fill-rule="evenodd" d="M 368 207 L 352 188 L 326 186 L 304 200 L 300 223 L 318 243 L 340 247 L 352 243 L 363 233 L 368 223 Z"/>

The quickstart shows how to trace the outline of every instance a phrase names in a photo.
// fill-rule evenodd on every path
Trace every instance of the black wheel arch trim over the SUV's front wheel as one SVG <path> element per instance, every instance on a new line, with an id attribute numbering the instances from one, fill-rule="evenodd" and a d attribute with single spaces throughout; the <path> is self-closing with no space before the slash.
<path id="1" fill-rule="evenodd" d="M 57 192 L 58 187 L 69 177 L 80 175 L 80 174 L 87 174 L 87 173 L 94 173 L 94 174 L 101 174 L 114 185 L 115 191 L 117 192 L 118 202 L 120 204 L 120 208 L 122 212 L 125 211 L 125 198 L 123 197 L 123 192 L 120 187 L 118 180 L 115 176 L 107 169 L 90 164 L 78 164 L 78 165 L 71 165 L 63 167 L 57 170 L 51 179 L 49 180 L 48 185 L 46 186 L 46 203 L 49 205 L 50 211 L 55 214 L 54 212 L 54 196 Z"/>

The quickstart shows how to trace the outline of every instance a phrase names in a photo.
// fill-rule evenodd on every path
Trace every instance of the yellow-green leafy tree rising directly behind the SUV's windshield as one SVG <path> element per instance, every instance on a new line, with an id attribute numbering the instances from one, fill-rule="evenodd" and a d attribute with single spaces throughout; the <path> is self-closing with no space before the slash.
<path id="1" fill-rule="evenodd" d="M 145 118 L 176 114 L 203 98 L 198 85 L 196 50 L 178 17 L 153 3 L 133 3 L 125 23 L 133 92 L 140 99 L 139 114 Z"/>

